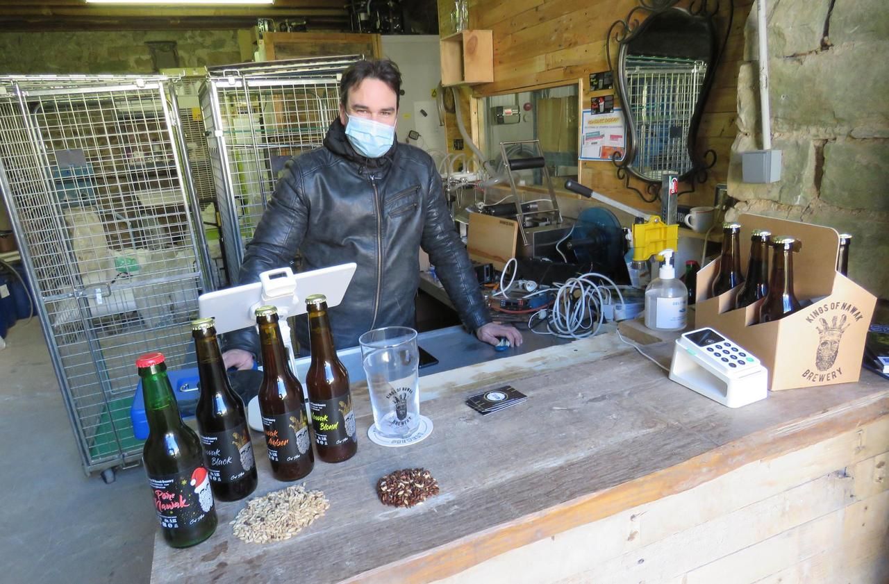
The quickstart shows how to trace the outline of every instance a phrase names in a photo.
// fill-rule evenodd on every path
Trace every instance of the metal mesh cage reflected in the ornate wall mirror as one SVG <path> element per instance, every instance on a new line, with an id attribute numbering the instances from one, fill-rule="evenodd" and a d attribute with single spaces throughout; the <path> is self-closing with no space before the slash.
<path id="1" fill-rule="evenodd" d="M 664 172 L 692 169 L 688 132 L 706 75 L 703 61 L 627 59 L 629 109 L 636 120 L 633 165 L 640 174 L 661 180 Z"/>

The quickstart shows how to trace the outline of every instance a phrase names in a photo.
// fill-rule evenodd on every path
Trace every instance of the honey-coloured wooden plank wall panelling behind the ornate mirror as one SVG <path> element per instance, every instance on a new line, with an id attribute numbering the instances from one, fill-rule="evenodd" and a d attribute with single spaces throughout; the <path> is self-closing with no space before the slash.
<path id="1" fill-rule="evenodd" d="M 709 179 L 684 195 L 682 204 L 712 204 L 717 182 L 725 182 L 731 146 L 737 132 L 738 68 L 744 53 L 744 28 L 753 0 L 736 0 L 733 23 L 723 60 L 718 65 L 705 114 L 701 118 L 698 148 L 717 152 L 717 164 Z M 624 19 L 637 0 L 470 0 L 469 23 L 490 28 L 494 41 L 494 81 L 474 88 L 477 96 L 536 89 L 542 85 L 573 83 L 578 77 L 607 68 L 605 35 L 614 20 Z M 443 33 L 452 31 L 449 12 L 453 3 L 439 2 Z M 562 83 L 564 82 L 564 83 Z M 589 104 L 589 85 L 584 82 L 581 108 Z M 449 141 L 451 138 L 449 136 Z M 450 144 L 449 144 L 450 147 Z M 659 204 L 645 204 L 618 180 L 613 164 L 581 161 L 581 182 L 622 203 L 656 211 Z M 630 180 L 643 189 L 645 183 Z"/>

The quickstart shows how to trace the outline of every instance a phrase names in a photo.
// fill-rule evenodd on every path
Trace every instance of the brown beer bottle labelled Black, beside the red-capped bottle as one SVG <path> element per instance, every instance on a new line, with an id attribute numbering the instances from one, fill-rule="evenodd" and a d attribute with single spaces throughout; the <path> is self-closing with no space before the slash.
<path id="1" fill-rule="evenodd" d="M 201 393 L 195 417 L 197 433 L 204 446 L 204 464 L 210 472 L 210 485 L 217 500 L 244 499 L 256 488 L 256 464 L 244 402 L 228 384 L 222 364 L 216 324 L 212 318 L 191 323 L 195 340 L 197 372 Z"/>

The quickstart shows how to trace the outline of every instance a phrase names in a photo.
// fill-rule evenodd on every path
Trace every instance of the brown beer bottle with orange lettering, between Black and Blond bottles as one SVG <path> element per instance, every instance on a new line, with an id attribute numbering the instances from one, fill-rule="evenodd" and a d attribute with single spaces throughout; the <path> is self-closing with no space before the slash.
<path id="1" fill-rule="evenodd" d="M 315 468 L 315 454 L 308 432 L 306 402 L 302 386 L 287 365 L 284 339 L 278 327 L 277 308 L 256 309 L 262 346 L 260 414 L 266 435 L 268 461 L 279 481 L 295 481 Z"/>

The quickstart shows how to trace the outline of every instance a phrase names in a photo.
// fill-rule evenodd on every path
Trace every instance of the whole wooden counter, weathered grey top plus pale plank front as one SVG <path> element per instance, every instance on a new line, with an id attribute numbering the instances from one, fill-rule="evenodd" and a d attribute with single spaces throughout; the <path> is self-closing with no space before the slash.
<path id="1" fill-rule="evenodd" d="M 648 352 L 669 362 L 671 343 Z M 529 396 L 484 418 L 463 400 L 509 381 Z M 220 526 L 195 548 L 156 538 L 153 582 L 885 582 L 889 384 L 770 394 L 740 410 L 683 388 L 612 334 L 421 380 L 424 442 L 366 438 L 305 484 L 331 508 L 285 542 Z M 283 488 L 259 435 L 255 495 Z M 384 507 L 377 479 L 424 467 L 441 494 Z"/>

